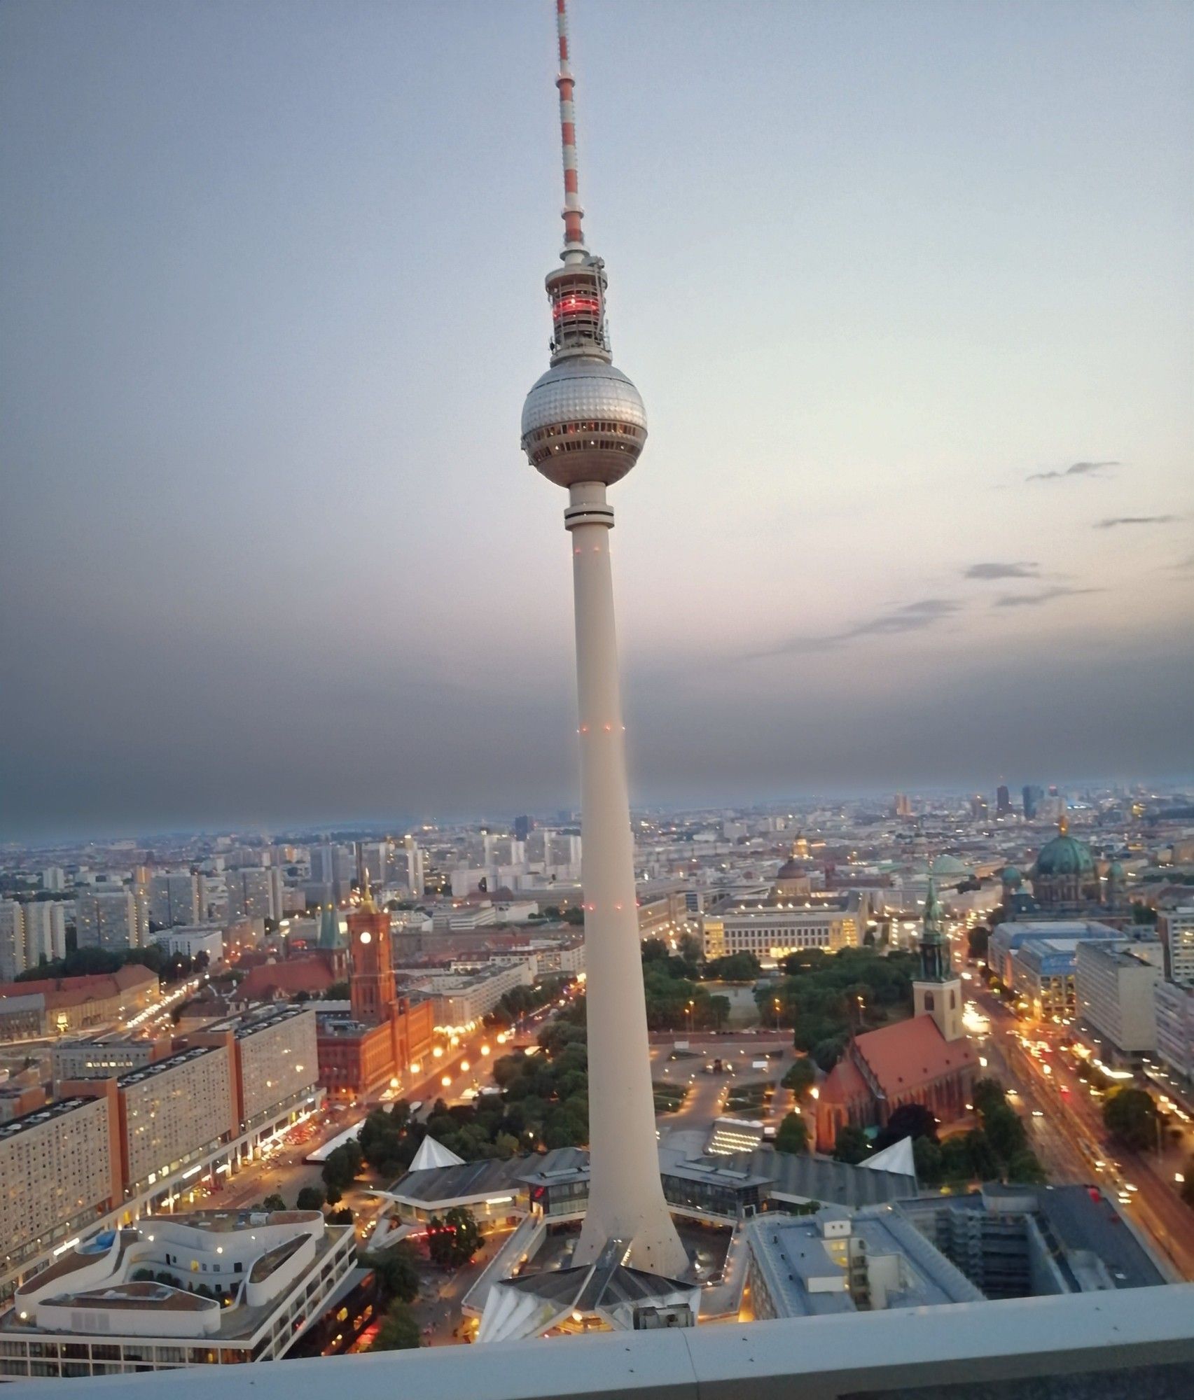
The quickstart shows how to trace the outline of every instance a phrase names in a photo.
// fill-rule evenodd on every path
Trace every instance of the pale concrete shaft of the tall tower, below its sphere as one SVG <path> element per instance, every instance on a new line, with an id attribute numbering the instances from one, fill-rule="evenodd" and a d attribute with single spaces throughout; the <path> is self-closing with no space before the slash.
<path id="1" fill-rule="evenodd" d="M 614 629 L 612 525 L 603 483 L 570 489 L 565 528 L 576 601 L 590 1151 L 589 1208 L 573 1261 L 594 1263 L 610 1239 L 624 1239 L 635 1268 L 675 1275 L 688 1259 L 659 1177 Z"/>

